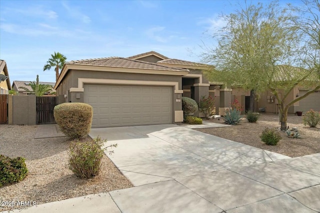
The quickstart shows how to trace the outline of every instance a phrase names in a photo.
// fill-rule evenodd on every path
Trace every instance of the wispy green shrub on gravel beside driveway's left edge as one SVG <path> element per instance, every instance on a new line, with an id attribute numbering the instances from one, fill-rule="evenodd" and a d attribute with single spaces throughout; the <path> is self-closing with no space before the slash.
<path id="1" fill-rule="evenodd" d="M 88 142 L 73 141 L 69 150 L 69 169 L 79 178 L 93 178 L 99 174 L 103 150 L 116 147 L 116 144 L 101 149 L 106 140 L 97 137 Z M 109 153 L 113 153 L 110 151 Z"/>

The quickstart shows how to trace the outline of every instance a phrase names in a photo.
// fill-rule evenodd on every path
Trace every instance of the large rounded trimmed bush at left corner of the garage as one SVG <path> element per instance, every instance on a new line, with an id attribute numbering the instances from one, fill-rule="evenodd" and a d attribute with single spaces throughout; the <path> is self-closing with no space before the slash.
<path id="1" fill-rule="evenodd" d="M 53 110 L 56 123 L 71 139 L 82 138 L 90 132 L 92 115 L 92 107 L 85 103 L 63 103 Z"/>

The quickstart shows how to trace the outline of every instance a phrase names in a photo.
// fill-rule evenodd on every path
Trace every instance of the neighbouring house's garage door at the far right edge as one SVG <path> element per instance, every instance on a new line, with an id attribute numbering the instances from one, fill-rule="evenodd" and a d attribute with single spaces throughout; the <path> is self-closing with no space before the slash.
<path id="1" fill-rule="evenodd" d="M 299 91 L 300 96 L 306 93 L 305 90 Z M 309 94 L 307 97 L 299 101 L 299 111 L 307 112 L 310 109 L 314 111 L 320 111 L 320 92 L 314 92 Z"/>

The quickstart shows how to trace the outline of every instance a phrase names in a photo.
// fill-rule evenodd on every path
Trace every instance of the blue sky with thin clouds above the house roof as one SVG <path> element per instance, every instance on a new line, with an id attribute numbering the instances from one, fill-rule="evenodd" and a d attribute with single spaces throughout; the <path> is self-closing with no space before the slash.
<path id="1" fill-rule="evenodd" d="M 37 74 L 55 82 L 53 69 L 43 72 L 54 51 L 67 61 L 151 50 L 199 61 L 199 45 L 214 45 L 210 32 L 225 24 L 219 14 L 234 12 L 238 3 L 244 1 L 0 0 L 0 59 L 11 83 L 33 81 Z"/>

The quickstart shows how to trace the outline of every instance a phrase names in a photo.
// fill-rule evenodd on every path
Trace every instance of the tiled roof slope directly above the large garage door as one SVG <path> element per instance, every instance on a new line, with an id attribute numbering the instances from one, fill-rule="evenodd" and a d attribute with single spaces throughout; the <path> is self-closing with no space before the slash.
<path id="1" fill-rule="evenodd" d="M 65 64 L 78 64 L 78 65 L 92 65 L 92 66 L 106 66 L 118 68 L 133 68 L 133 69 L 151 69 L 151 70 L 165 70 L 165 71 L 187 71 L 182 68 L 172 68 L 156 63 L 146 61 L 133 60 L 122 57 L 107 57 L 107 58 L 93 58 L 84 60 L 68 61 Z"/>

